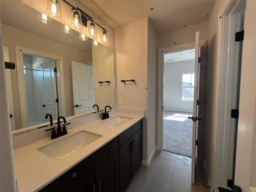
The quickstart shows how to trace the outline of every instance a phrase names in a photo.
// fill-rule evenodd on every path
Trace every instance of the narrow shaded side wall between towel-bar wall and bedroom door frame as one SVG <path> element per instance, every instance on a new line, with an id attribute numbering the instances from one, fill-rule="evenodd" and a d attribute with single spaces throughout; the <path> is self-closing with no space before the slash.
<path id="1" fill-rule="evenodd" d="M 148 89 L 147 89 L 147 115 L 148 115 L 148 157 L 157 143 L 157 49 L 156 32 L 148 20 Z"/>

